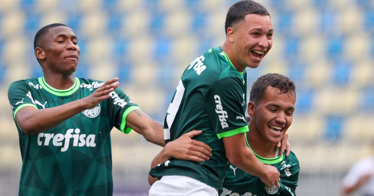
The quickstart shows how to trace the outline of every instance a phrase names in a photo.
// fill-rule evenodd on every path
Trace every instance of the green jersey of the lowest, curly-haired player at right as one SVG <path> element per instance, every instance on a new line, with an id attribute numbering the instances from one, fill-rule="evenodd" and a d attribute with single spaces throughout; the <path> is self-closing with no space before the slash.
<path id="1" fill-rule="evenodd" d="M 247 141 L 248 144 L 248 141 Z M 248 145 L 249 148 L 251 148 Z M 277 151 L 278 153 L 278 151 Z M 259 177 L 247 174 L 234 165 L 227 168 L 223 181 L 223 190 L 219 191 L 219 196 L 296 196 L 295 189 L 298 182 L 300 165 L 297 157 L 291 152 L 286 158 L 286 152 L 275 158 L 263 158 L 257 155 L 257 159 L 264 164 L 276 167 L 281 173 L 281 181 L 277 186 L 269 187 L 265 185 Z"/>

